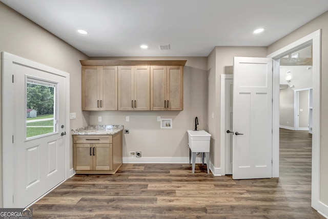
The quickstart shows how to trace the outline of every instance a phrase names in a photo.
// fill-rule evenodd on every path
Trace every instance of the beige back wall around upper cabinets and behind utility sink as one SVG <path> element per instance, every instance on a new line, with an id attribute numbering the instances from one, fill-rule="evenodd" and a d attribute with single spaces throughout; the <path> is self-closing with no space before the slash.
<path id="1" fill-rule="evenodd" d="M 92 111 L 90 125 L 124 125 L 123 156 L 141 151 L 142 157 L 189 157 L 188 129 L 207 129 L 207 57 L 92 57 L 92 59 L 187 60 L 183 67 L 183 111 Z M 98 122 L 98 116 L 101 121 Z M 130 122 L 126 122 L 130 116 Z M 172 118 L 172 129 L 160 129 L 157 116 Z M 141 159 L 142 160 L 142 159 Z M 169 160 L 168 160 L 169 162 Z"/>

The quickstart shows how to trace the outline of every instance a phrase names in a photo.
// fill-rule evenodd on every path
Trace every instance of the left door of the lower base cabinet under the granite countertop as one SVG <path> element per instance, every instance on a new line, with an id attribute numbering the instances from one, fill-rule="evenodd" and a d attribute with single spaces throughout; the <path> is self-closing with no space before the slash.
<path id="1" fill-rule="evenodd" d="M 74 144 L 74 169 L 92 170 L 93 169 L 93 147 L 92 144 Z"/>

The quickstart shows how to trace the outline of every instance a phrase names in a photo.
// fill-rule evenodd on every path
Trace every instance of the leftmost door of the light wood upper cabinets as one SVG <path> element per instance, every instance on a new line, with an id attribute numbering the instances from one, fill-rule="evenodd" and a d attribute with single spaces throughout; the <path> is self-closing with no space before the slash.
<path id="1" fill-rule="evenodd" d="M 99 110 L 100 67 L 82 66 L 82 110 Z"/>

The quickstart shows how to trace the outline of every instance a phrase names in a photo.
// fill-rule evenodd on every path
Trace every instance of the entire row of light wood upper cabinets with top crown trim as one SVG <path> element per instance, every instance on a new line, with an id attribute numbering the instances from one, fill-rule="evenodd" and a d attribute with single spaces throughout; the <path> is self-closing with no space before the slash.
<path id="1" fill-rule="evenodd" d="M 186 62 L 81 60 L 82 110 L 183 110 Z"/>

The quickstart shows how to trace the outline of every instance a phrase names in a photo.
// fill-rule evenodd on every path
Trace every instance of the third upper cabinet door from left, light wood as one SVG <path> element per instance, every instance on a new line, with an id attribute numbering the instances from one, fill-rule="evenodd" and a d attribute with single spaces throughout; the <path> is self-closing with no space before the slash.
<path id="1" fill-rule="evenodd" d="M 118 66 L 118 110 L 134 109 L 134 68 Z"/>

